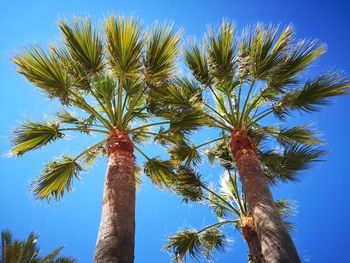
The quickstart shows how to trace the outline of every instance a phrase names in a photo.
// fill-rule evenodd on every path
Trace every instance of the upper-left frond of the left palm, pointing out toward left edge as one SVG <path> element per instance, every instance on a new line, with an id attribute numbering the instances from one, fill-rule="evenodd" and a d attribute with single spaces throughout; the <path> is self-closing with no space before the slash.
<path id="1" fill-rule="evenodd" d="M 18 66 L 17 71 L 49 98 L 59 98 L 62 103 L 68 103 L 71 87 L 68 69 L 62 66 L 53 52 L 46 54 L 39 47 L 31 47 L 19 52 L 12 61 Z"/>

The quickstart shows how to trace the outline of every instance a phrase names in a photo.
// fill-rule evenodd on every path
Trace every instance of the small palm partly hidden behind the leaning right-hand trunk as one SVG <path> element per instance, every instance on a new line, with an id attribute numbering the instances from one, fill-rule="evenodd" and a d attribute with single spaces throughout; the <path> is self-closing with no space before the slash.
<path id="1" fill-rule="evenodd" d="M 229 239 L 220 230 L 228 225 L 238 229 L 248 244 L 248 261 L 252 263 L 266 262 L 261 251 L 261 244 L 255 229 L 254 219 L 244 195 L 239 190 L 236 171 L 226 170 L 220 180 L 220 188 L 214 189 L 203 182 L 201 176 L 189 167 L 181 167 L 176 180 L 175 190 L 182 195 L 185 202 L 194 201 L 208 205 L 218 218 L 218 223 L 206 226 L 201 230 L 180 230 L 169 237 L 164 249 L 174 253 L 176 262 L 183 262 L 186 254 L 198 260 L 199 254 L 207 259 L 216 251 L 225 251 Z M 283 218 L 292 215 L 292 206 L 288 200 L 279 200 L 276 206 Z M 289 229 L 292 225 L 284 221 Z"/>

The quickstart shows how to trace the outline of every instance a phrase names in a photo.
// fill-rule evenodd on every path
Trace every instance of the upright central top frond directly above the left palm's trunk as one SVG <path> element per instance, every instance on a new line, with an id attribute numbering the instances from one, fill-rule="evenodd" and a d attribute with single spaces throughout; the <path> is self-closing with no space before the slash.
<path id="1" fill-rule="evenodd" d="M 105 22 L 108 59 L 117 77 L 141 73 L 144 36 L 135 17 L 111 16 Z"/>

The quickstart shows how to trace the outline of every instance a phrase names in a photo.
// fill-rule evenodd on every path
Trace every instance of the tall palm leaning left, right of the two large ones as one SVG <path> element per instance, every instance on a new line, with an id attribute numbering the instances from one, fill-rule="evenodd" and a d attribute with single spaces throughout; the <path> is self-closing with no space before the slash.
<path id="1" fill-rule="evenodd" d="M 300 259 L 273 201 L 253 135 L 268 137 L 269 145 L 281 151 L 293 143 L 318 142 L 312 130 L 285 123 L 292 113 L 319 110 L 350 86 L 349 79 L 335 71 L 304 79 L 305 70 L 325 49 L 317 41 L 297 41 L 292 26 L 280 32 L 257 24 L 235 38 L 234 25 L 223 21 L 209 29 L 203 47 L 192 42 L 184 51 L 195 77 L 186 83 L 197 87 L 195 103 L 202 106 L 209 126 L 223 132 L 213 141 L 223 139 L 230 146 L 267 262 Z M 276 121 L 280 124 L 267 125 Z M 187 150 L 184 159 L 195 154 L 193 145 L 178 147 Z M 283 167 L 277 160 L 274 165 Z"/>

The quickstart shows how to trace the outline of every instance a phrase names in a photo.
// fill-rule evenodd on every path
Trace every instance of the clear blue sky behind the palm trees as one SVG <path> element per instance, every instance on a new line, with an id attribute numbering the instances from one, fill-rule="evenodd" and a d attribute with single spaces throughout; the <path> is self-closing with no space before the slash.
<path id="1" fill-rule="evenodd" d="M 318 38 L 328 44 L 327 54 L 316 63 L 316 71 L 332 66 L 350 74 L 350 4 L 344 0 L 281 1 L 92 1 L 35 0 L 3 1 L 0 10 L 0 228 L 11 229 L 16 237 L 24 238 L 30 231 L 40 233 L 42 252 L 64 244 L 64 253 L 79 262 L 91 262 L 100 219 L 105 161 L 100 161 L 74 191 L 59 203 L 39 203 L 29 193 L 29 181 L 38 175 L 51 157 L 76 153 L 78 146 L 87 146 L 86 138 L 74 137 L 63 143 L 29 153 L 21 159 L 6 158 L 10 149 L 5 136 L 23 118 L 39 119 L 58 108 L 15 72 L 9 61 L 11 54 L 29 43 L 47 45 L 58 39 L 57 21 L 73 15 L 89 15 L 100 20 L 111 13 L 137 15 L 145 24 L 155 20 L 174 21 L 185 36 L 201 37 L 206 26 L 229 18 L 239 27 L 257 21 L 293 23 L 300 38 Z M 297 201 L 295 218 L 297 230 L 293 237 L 304 262 L 350 262 L 349 236 L 349 128 L 350 96 L 337 98 L 320 113 L 306 116 L 327 141 L 326 161 L 301 175 L 301 182 L 274 189 L 276 197 Z M 293 122 L 299 122 L 293 119 Z M 157 148 L 149 146 L 151 155 Z M 139 156 L 137 156 L 139 157 Z M 206 167 L 207 175 L 215 181 L 219 169 Z M 164 240 L 180 226 L 202 227 L 215 219 L 205 207 L 184 206 L 180 199 L 160 191 L 148 180 L 137 193 L 136 211 L 137 263 L 169 262 L 161 252 Z M 218 255 L 214 262 L 246 262 L 246 245 L 239 233 L 231 250 Z"/>

